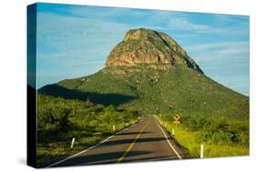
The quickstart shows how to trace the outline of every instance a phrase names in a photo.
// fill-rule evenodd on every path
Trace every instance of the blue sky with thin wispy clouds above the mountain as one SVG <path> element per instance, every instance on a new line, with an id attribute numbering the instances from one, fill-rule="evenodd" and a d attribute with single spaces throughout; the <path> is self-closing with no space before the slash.
<path id="1" fill-rule="evenodd" d="M 138 27 L 170 35 L 205 75 L 249 95 L 249 16 L 87 5 L 37 5 L 37 86 L 96 73 Z"/>

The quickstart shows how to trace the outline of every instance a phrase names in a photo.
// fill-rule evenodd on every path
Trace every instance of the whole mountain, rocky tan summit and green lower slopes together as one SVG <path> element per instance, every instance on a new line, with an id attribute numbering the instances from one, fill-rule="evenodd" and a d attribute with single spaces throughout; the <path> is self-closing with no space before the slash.
<path id="1" fill-rule="evenodd" d="M 60 81 L 40 94 L 137 110 L 142 114 L 189 113 L 248 117 L 249 97 L 204 75 L 169 35 L 129 30 L 94 75 Z"/>

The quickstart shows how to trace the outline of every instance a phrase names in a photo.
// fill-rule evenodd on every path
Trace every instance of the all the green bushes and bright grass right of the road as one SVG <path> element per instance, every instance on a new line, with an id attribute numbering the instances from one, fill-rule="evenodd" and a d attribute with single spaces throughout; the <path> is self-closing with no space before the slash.
<path id="1" fill-rule="evenodd" d="M 159 120 L 190 156 L 200 156 L 204 145 L 204 157 L 249 155 L 249 119 L 200 114 L 180 114 L 180 125 L 173 124 L 175 114 L 161 114 Z"/>

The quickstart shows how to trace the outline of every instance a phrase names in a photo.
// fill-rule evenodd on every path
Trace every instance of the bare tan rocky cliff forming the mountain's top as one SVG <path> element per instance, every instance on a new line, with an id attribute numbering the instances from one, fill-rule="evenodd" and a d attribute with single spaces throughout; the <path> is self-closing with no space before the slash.
<path id="1" fill-rule="evenodd" d="M 129 30 L 108 55 L 106 67 L 135 66 L 159 70 L 188 67 L 203 73 L 186 51 L 169 35 L 139 28 Z"/>

